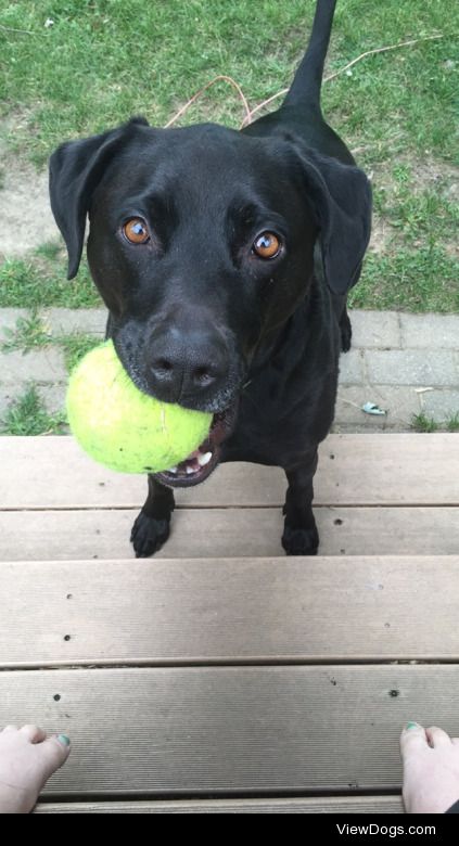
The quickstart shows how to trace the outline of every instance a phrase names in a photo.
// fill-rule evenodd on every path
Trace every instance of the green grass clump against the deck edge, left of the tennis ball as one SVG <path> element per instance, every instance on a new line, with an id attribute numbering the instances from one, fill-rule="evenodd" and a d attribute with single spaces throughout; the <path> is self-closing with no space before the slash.
<path id="1" fill-rule="evenodd" d="M 10 405 L 0 421 L 0 432 L 3 435 L 59 435 L 65 425 L 65 415 L 50 414 L 37 387 L 29 385 L 23 396 Z"/>

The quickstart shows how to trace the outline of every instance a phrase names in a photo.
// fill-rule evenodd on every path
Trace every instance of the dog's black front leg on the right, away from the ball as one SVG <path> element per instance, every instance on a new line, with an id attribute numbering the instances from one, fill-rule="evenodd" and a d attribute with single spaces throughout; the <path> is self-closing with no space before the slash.
<path id="1" fill-rule="evenodd" d="M 289 482 L 283 514 L 282 547 L 288 555 L 315 555 L 319 534 L 313 514 L 313 477 L 317 469 L 317 447 L 294 470 L 286 470 Z"/>

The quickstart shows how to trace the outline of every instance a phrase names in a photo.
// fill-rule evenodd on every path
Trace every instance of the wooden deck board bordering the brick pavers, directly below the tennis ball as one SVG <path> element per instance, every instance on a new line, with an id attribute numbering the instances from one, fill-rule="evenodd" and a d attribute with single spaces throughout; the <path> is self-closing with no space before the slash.
<path id="1" fill-rule="evenodd" d="M 331 458 L 333 456 L 333 458 Z M 0 437 L 8 479 L 3 509 L 136 508 L 141 476 L 95 464 L 69 437 Z M 452 472 L 456 467 L 456 473 Z M 330 435 L 320 446 L 316 504 L 459 504 L 459 438 L 455 434 Z M 225 464 L 203 485 L 179 491 L 179 507 L 281 505 L 285 477 L 277 467 Z"/>

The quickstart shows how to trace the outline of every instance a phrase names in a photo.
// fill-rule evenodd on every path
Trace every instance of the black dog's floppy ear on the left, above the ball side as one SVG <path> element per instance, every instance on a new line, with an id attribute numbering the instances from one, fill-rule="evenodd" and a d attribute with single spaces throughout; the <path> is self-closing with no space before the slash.
<path id="1" fill-rule="evenodd" d="M 92 193 L 109 162 L 131 140 L 139 125 L 149 124 L 138 117 L 110 132 L 68 141 L 50 158 L 51 208 L 67 247 L 68 279 L 78 271 Z"/>

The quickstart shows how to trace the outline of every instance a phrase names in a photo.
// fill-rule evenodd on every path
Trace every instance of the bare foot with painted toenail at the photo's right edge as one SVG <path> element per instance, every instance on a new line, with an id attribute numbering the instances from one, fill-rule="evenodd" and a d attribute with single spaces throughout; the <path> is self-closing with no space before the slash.
<path id="1" fill-rule="evenodd" d="M 407 813 L 445 813 L 459 799 L 459 738 L 409 722 L 400 751 Z"/>

